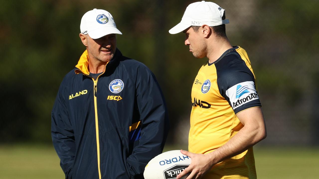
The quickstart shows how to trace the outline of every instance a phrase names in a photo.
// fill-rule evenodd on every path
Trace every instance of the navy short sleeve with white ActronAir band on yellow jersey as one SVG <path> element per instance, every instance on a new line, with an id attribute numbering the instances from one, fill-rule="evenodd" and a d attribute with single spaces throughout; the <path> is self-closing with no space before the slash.
<path id="1" fill-rule="evenodd" d="M 261 107 L 254 75 L 238 53 L 226 55 L 215 66 L 219 92 L 235 114 L 251 107 Z"/>

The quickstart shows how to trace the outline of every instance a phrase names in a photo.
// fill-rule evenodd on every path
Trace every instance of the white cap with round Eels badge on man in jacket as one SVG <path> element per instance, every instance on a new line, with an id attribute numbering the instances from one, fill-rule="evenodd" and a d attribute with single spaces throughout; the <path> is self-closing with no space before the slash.
<path id="1" fill-rule="evenodd" d="M 92 39 L 111 33 L 122 34 L 116 28 L 112 15 L 102 9 L 87 11 L 81 19 L 80 30 L 82 34 L 89 34 Z"/>

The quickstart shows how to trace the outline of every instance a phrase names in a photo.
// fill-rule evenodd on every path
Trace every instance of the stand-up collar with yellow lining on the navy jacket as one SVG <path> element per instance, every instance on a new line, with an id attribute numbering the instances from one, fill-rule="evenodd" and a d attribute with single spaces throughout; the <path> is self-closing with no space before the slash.
<path id="1" fill-rule="evenodd" d="M 122 56 L 122 53 L 120 52 L 120 50 L 118 48 L 116 48 L 115 50 L 115 54 L 114 54 L 114 57 L 107 62 L 106 65 L 108 64 L 113 64 L 115 61 L 117 61 L 118 59 L 120 59 Z M 89 75 L 90 72 L 89 72 L 89 56 L 87 55 L 87 50 L 85 50 L 83 52 L 83 54 L 81 55 L 79 61 L 78 61 L 78 64 L 75 66 L 77 69 L 75 69 L 75 74 L 80 74 L 80 73 L 83 73 L 85 75 Z"/>

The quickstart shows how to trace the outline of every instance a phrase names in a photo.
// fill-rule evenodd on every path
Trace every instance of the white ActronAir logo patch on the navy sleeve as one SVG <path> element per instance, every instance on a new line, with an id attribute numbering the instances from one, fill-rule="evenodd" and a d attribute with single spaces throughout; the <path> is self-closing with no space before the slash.
<path id="1" fill-rule="evenodd" d="M 233 109 L 252 100 L 259 99 L 255 83 L 252 81 L 238 83 L 226 90 Z"/>

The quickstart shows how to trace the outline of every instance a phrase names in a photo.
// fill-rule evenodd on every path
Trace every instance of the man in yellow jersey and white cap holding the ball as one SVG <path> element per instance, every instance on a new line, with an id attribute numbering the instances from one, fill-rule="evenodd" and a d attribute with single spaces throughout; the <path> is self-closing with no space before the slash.
<path id="1" fill-rule="evenodd" d="M 226 37 L 225 10 L 212 2 L 189 4 L 169 30 L 184 32 L 185 45 L 208 61 L 198 71 L 191 99 L 189 151 L 192 159 L 178 176 L 187 179 L 256 178 L 253 145 L 266 137 L 256 79 L 246 51 Z"/>

